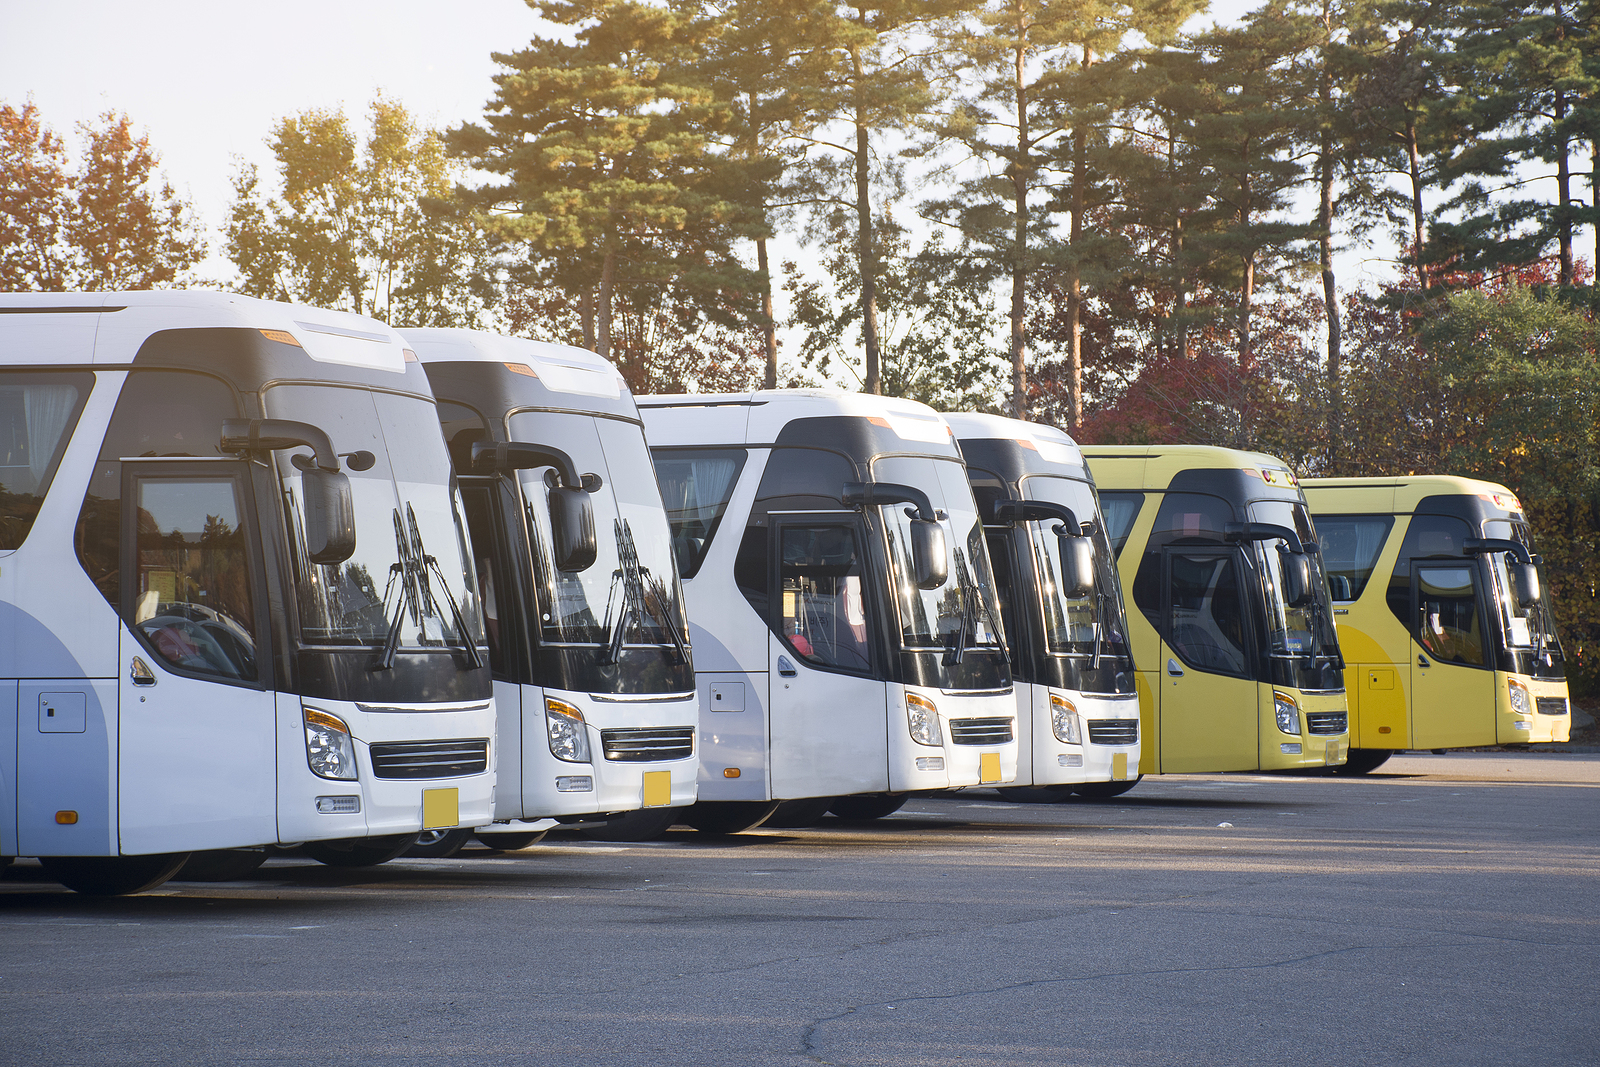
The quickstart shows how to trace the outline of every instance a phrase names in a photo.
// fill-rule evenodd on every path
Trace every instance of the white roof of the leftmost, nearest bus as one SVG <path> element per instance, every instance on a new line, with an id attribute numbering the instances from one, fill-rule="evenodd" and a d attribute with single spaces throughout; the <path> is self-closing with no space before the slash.
<path id="1" fill-rule="evenodd" d="M 405 341 L 366 315 L 213 290 L 0 293 L 5 365 L 131 365 L 152 334 L 218 328 L 288 334 L 272 339 L 288 339 L 318 363 L 405 374 Z"/>

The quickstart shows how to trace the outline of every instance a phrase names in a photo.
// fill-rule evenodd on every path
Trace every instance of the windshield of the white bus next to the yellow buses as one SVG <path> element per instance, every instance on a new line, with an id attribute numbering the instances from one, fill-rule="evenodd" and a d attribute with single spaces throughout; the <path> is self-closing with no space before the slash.
<path id="1" fill-rule="evenodd" d="M 1029 475 L 1022 478 L 1022 494 L 1034 501 L 1050 501 L 1072 509 L 1078 522 L 1093 522 L 1094 589 L 1083 597 L 1067 597 L 1061 589 L 1059 539 L 1056 523 L 1027 523 L 1035 565 L 1042 579 L 1040 606 L 1045 613 L 1048 651 L 1085 662 L 1080 669 L 1109 667 L 1126 670 L 1130 653 L 1128 622 L 1123 616 L 1122 589 L 1112 569 L 1112 549 L 1106 523 L 1094 522 L 1094 491 L 1085 482 Z M 1072 531 L 1077 533 L 1077 531 Z M 1110 662 L 1104 662 L 1110 661 Z"/>

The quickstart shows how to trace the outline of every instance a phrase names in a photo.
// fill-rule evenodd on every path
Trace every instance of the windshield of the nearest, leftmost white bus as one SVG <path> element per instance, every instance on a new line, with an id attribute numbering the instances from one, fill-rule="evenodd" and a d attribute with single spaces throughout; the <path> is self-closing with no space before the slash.
<path id="1" fill-rule="evenodd" d="M 315 565 L 306 552 L 304 486 L 293 451 L 275 453 L 299 606 L 299 641 L 322 648 L 450 653 L 483 643 L 466 530 L 437 424 L 421 397 L 362 387 L 274 386 L 262 403 L 275 419 L 310 422 L 339 453 L 365 450 L 368 470 L 346 467 L 355 504 L 355 553 Z"/>

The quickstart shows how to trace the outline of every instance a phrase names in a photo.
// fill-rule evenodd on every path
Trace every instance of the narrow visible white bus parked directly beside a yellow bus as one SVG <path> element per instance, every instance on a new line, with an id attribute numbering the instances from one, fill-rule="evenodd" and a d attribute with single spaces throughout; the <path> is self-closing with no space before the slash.
<path id="1" fill-rule="evenodd" d="M 989 536 L 1021 742 L 1011 800 L 1139 781 L 1139 694 L 1094 478 L 1053 426 L 947 414 Z"/>

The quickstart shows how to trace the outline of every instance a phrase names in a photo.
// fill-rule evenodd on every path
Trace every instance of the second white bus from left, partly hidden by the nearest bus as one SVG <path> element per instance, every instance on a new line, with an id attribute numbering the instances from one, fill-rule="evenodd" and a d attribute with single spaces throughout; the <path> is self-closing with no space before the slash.
<path id="1" fill-rule="evenodd" d="M 694 665 L 638 408 L 584 349 L 406 330 L 466 499 L 499 712 L 496 848 L 654 837 L 694 803 Z"/>

